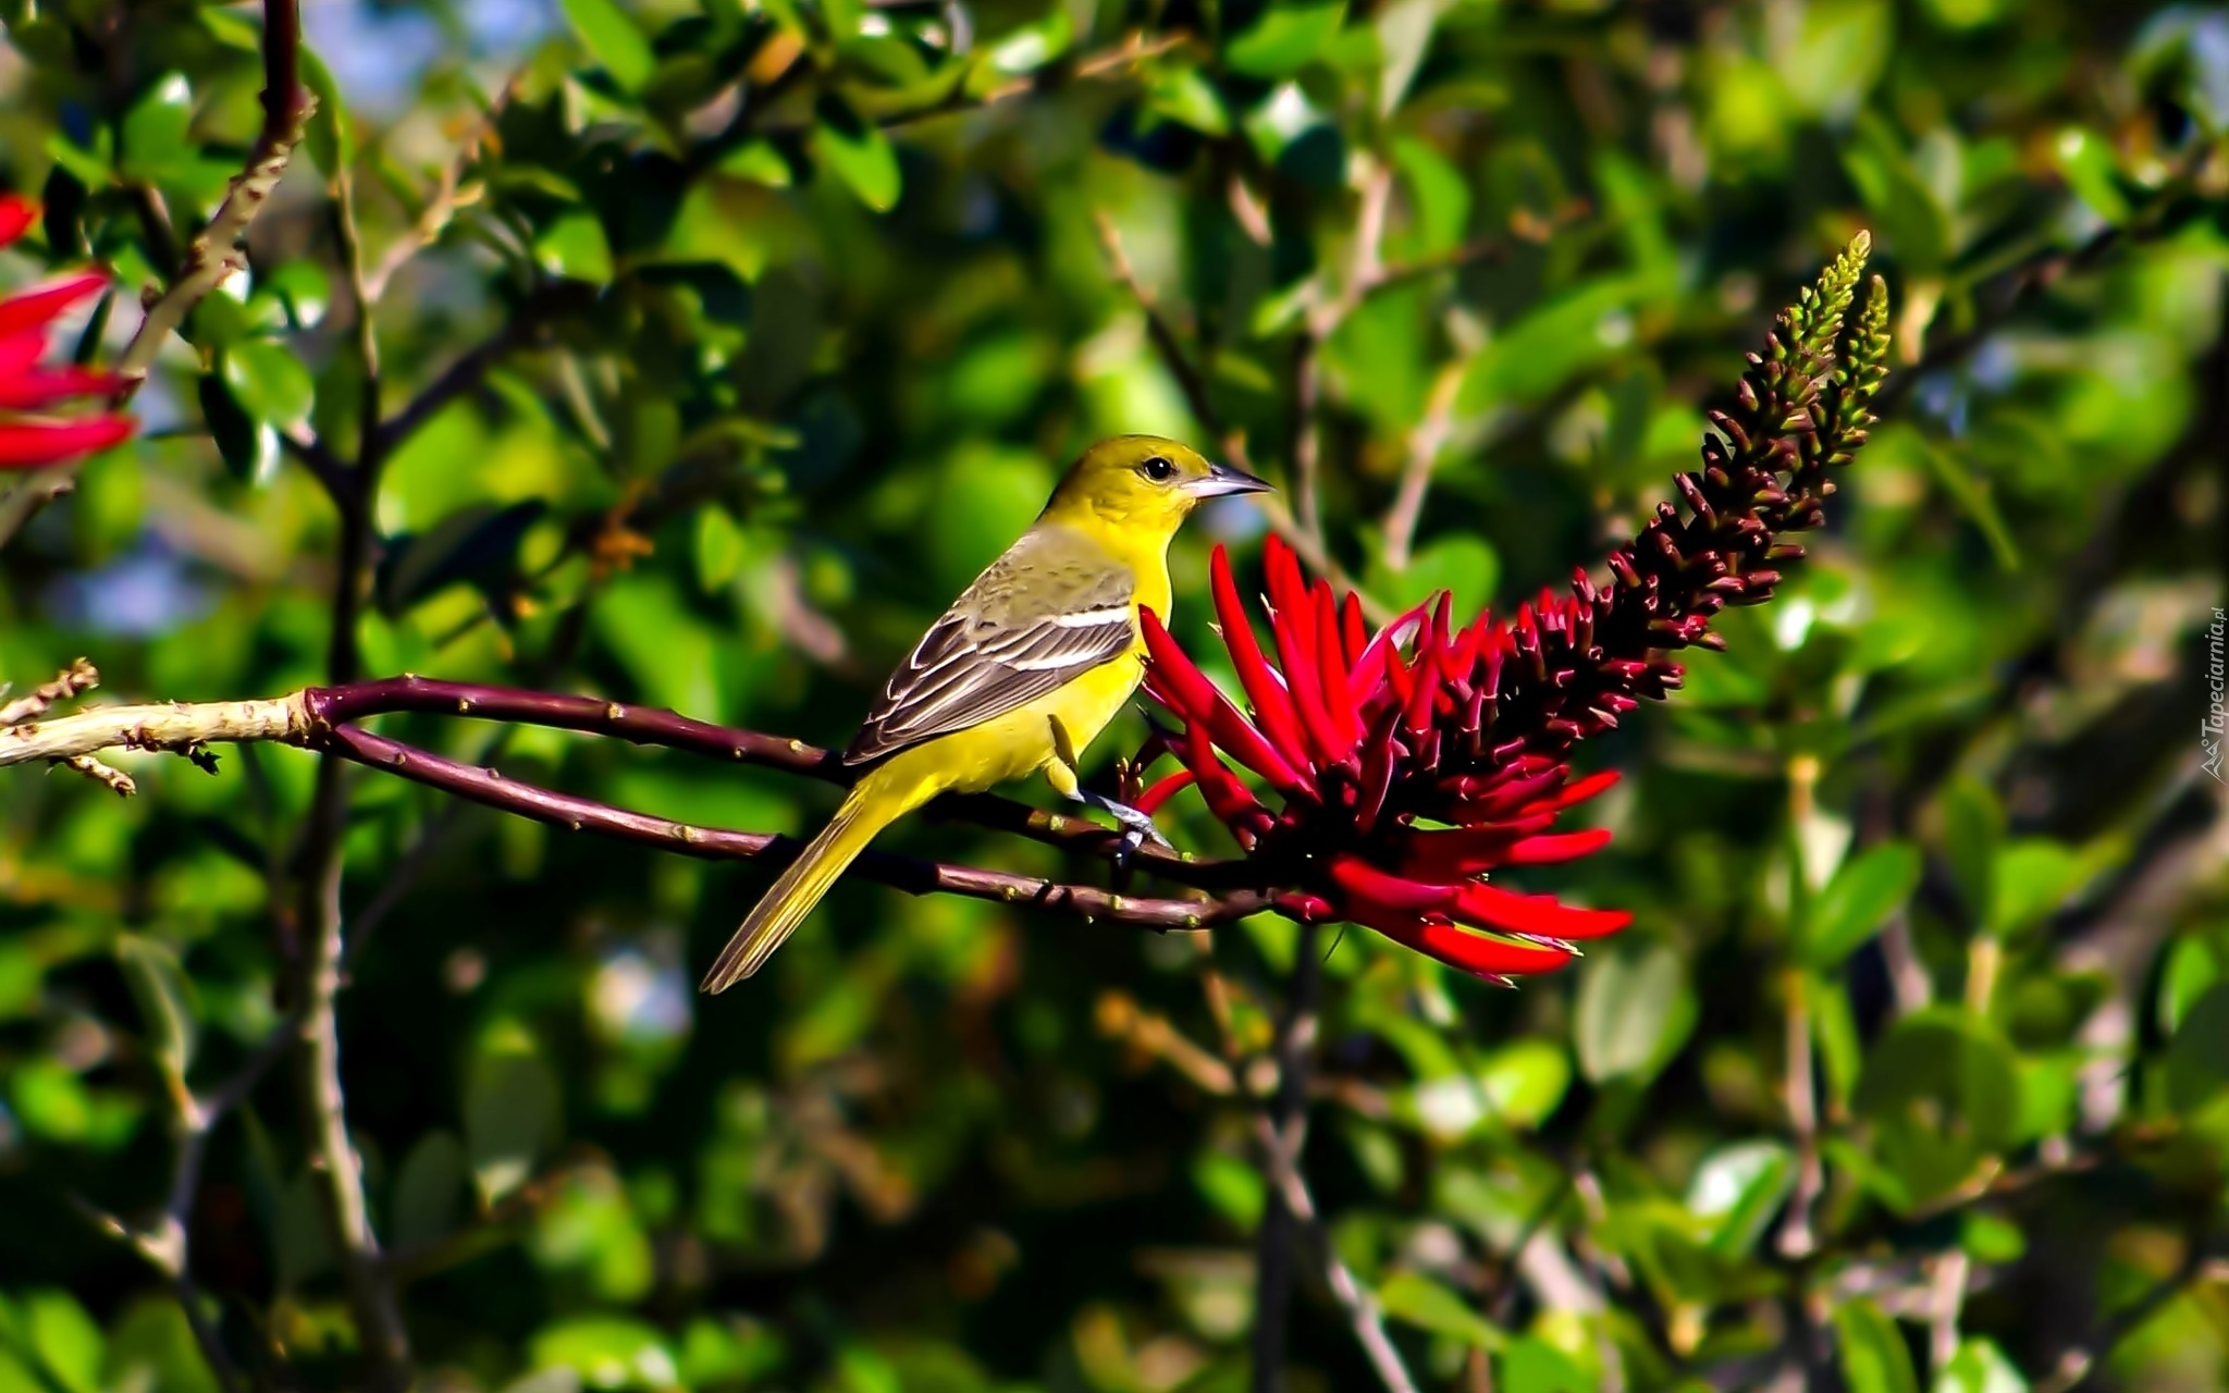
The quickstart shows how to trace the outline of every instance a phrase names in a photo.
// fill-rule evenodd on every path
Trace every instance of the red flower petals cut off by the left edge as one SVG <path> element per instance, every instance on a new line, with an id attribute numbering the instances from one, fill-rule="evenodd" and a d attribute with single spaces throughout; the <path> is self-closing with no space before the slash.
<path id="1" fill-rule="evenodd" d="M 0 247 L 22 236 L 33 218 L 38 205 L 0 196 Z M 40 366 L 53 319 L 107 283 L 107 272 L 87 270 L 0 299 L 0 468 L 36 468 L 107 450 L 136 428 L 132 417 L 116 412 L 53 415 L 65 401 L 114 394 L 114 372 Z"/>

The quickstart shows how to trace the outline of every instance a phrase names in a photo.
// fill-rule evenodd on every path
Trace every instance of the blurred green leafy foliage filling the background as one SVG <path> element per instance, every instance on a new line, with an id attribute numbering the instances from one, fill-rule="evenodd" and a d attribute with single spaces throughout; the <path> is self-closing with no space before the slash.
<path id="1" fill-rule="evenodd" d="M 1507 600 L 1670 495 L 1770 310 L 1870 227 L 1897 377 L 1830 530 L 1600 742 L 1612 849 L 1527 880 L 1638 925 L 1520 992 L 1344 936 L 1306 1170 L 1424 1386 L 2229 1384 L 2229 834 L 2193 740 L 2229 557 L 2229 13 L 450 2 L 310 13 L 321 105 L 252 274 L 169 345 L 147 439 L 0 555 L 0 673 L 323 680 L 343 522 L 296 461 L 370 444 L 366 671 L 840 742 L 1063 459 L 1210 444 L 1094 214 L 1255 466 L 1291 486 L 1320 435 L 1328 551 L 1375 600 Z M 127 310 L 259 129 L 256 16 L 0 16 L 0 178 L 47 205 L 0 274 L 100 259 Z M 1179 542 L 1179 631 L 1208 544 L 1259 526 Z M 829 807 L 392 729 L 700 822 Z M 1094 747 L 1101 778 L 1141 736 Z M 221 1386 L 85 1206 L 160 1215 L 183 1081 L 288 1010 L 314 760 L 123 762 L 132 802 L 0 780 L 0 1389 Z M 1059 867 L 952 825 L 892 842 Z M 700 1001 L 751 867 L 372 776 L 345 854 L 348 1123 L 424 1386 L 1244 1384 L 1264 1179 L 1201 1061 L 1228 1041 L 1224 1077 L 1264 1083 L 1291 925 L 847 885 Z M 352 1386 L 272 1079 L 189 1188 L 185 1295 L 259 1386 Z M 1295 1386 L 1373 1386 L 1320 1282 L 1300 1299 Z"/>

